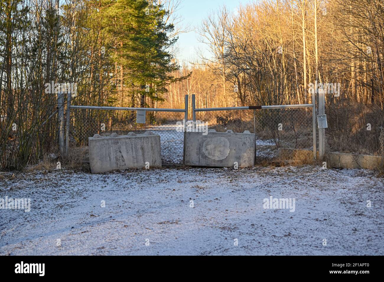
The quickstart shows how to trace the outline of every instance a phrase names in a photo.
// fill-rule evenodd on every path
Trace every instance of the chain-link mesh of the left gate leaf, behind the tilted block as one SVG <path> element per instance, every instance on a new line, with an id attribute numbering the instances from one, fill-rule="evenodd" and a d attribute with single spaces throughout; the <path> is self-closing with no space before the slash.
<path id="1" fill-rule="evenodd" d="M 160 135 L 161 158 L 164 164 L 182 164 L 184 133 L 177 132 L 176 123 L 184 119 L 184 112 L 147 111 L 146 123 L 136 123 L 136 111 L 71 109 L 70 155 L 87 160 L 88 137 L 94 134 L 108 136 L 112 133 L 152 131 Z"/>

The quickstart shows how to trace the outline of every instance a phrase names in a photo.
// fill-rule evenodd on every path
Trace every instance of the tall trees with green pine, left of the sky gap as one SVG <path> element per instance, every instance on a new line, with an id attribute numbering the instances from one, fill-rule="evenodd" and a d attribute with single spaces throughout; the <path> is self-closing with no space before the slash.
<path id="1" fill-rule="evenodd" d="M 57 152 L 55 83 L 76 84 L 73 105 L 157 107 L 184 79 L 173 76 L 177 3 L 2 0 L 0 167 Z"/>

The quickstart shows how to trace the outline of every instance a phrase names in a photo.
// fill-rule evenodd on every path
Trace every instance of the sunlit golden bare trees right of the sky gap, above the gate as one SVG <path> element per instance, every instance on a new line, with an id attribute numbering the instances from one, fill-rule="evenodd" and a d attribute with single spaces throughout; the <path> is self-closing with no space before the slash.
<path id="1" fill-rule="evenodd" d="M 383 25 L 379 0 L 268 0 L 235 14 L 220 7 L 198 28 L 212 58 L 192 62 L 184 70 L 192 75 L 172 83 L 166 100 L 195 93 L 208 107 L 310 103 L 317 78 L 341 85 L 341 98 L 327 95 L 328 103 L 382 109 Z"/>

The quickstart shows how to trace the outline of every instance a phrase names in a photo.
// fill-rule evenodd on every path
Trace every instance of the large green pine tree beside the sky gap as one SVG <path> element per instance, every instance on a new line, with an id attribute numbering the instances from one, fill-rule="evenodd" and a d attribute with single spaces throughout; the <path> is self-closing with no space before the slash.
<path id="1" fill-rule="evenodd" d="M 177 37 L 170 38 L 174 26 L 164 23 L 166 11 L 146 0 L 117 0 L 105 12 L 104 24 L 115 38 L 115 62 L 120 67 L 120 90 L 129 85 L 124 95 L 134 101 L 140 95 L 140 106 L 147 106 L 146 97 L 162 101 L 167 85 L 182 78 L 171 75 L 180 66 L 174 62 L 170 47 Z M 123 71 L 122 71 L 123 70 Z M 116 71 L 117 73 L 117 71 Z"/>

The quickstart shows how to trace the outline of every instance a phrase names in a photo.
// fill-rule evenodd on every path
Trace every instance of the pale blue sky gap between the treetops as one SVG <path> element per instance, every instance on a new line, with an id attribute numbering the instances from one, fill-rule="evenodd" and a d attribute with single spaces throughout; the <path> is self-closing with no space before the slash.
<path id="1" fill-rule="evenodd" d="M 251 0 L 184 0 L 181 4 L 181 8 L 177 12 L 181 15 L 184 20 L 182 25 L 190 24 L 191 28 L 195 29 L 207 15 L 218 9 L 218 7 L 225 5 L 228 11 L 234 11 L 235 8 L 240 4 L 252 2 Z M 192 60 L 195 57 L 195 49 L 200 48 L 204 51 L 205 56 L 209 56 L 207 46 L 203 43 L 199 43 L 198 34 L 192 30 L 189 33 L 182 33 L 179 35 L 177 41 L 179 52 L 177 59 Z"/>

